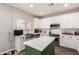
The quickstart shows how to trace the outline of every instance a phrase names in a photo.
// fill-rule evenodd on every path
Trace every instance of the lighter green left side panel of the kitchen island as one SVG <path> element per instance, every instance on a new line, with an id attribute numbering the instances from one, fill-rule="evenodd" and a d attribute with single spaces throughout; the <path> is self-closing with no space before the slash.
<path id="1" fill-rule="evenodd" d="M 41 55 L 41 51 L 38 51 L 38 50 L 26 45 L 25 54 L 26 55 Z"/>

